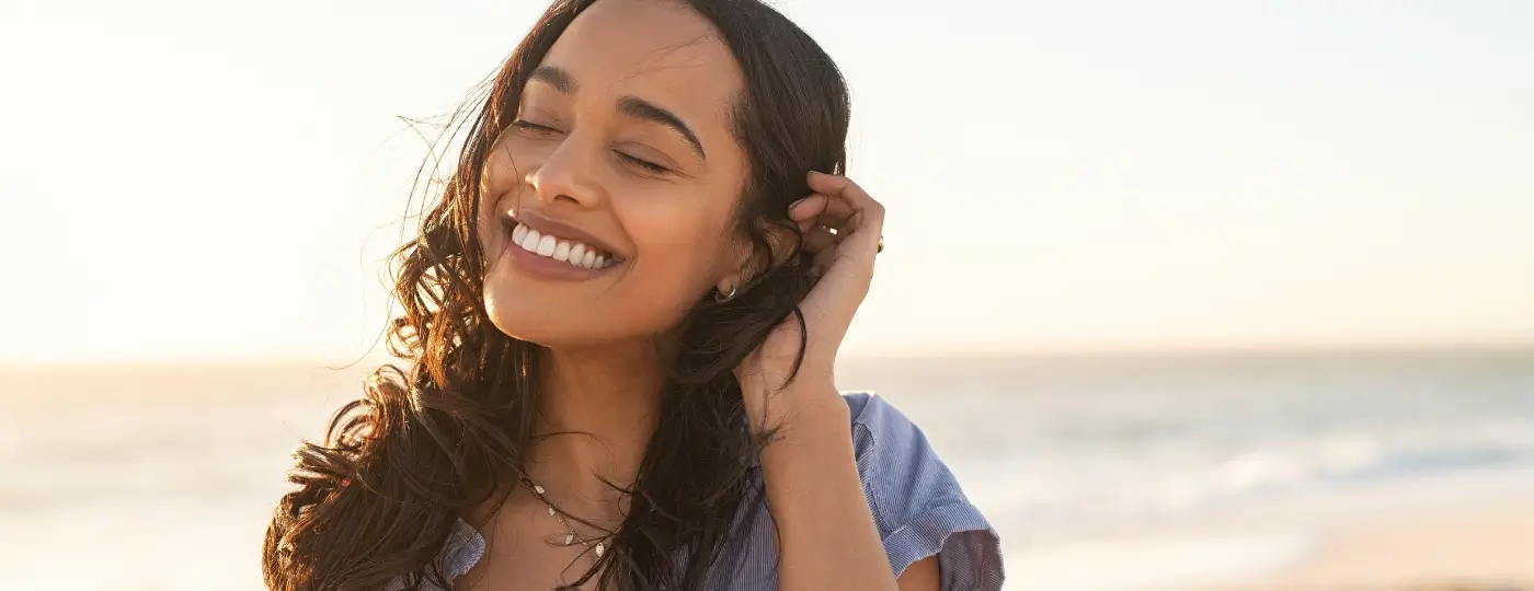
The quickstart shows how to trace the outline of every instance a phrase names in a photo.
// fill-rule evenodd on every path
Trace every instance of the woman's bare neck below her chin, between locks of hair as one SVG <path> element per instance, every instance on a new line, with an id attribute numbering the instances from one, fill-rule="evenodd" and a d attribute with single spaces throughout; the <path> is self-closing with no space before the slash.
<path id="1" fill-rule="evenodd" d="M 540 363 L 529 478 L 572 511 L 621 513 L 612 485 L 634 484 L 660 412 L 664 377 L 653 343 L 543 349 Z"/>

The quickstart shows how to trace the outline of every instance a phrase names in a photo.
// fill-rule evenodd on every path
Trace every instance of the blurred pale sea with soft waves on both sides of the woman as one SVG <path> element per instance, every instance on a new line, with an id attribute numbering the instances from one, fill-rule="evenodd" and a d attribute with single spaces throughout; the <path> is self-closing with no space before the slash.
<path id="1" fill-rule="evenodd" d="M 288 452 L 367 369 L 0 372 L 0 589 L 261 589 Z M 853 360 L 838 381 L 922 426 L 1009 589 L 1216 580 L 1327 519 L 1534 482 L 1528 349 Z M 1081 579 L 1104 560 L 1117 579 Z"/>

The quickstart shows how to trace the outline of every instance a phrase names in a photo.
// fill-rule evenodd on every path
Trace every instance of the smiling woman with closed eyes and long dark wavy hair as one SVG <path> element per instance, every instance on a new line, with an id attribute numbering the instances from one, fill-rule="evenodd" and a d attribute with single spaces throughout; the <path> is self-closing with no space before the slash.
<path id="1" fill-rule="evenodd" d="M 396 253 L 385 366 L 304 444 L 267 585 L 999 589 L 905 416 L 833 387 L 884 208 L 755 0 L 560 0 Z"/>

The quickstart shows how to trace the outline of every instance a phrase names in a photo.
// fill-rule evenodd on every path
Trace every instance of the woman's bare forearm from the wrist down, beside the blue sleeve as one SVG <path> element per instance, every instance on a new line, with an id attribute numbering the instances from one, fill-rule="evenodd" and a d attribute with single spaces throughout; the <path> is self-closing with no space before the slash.
<path id="1" fill-rule="evenodd" d="M 793 384 L 775 398 L 795 401 L 761 456 L 779 588 L 896 589 L 858 478 L 847 404 L 830 386 Z"/>

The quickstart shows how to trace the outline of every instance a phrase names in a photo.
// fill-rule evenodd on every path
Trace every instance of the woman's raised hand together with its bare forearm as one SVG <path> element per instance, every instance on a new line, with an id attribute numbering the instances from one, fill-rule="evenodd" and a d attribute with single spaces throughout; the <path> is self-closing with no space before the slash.
<path id="1" fill-rule="evenodd" d="M 799 355 L 799 322 L 790 317 L 735 369 L 752 429 L 782 429 L 761 452 L 781 547 L 778 583 L 784 591 L 896 591 L 858 473 L 851 410 L 831 374 L 836 349 L 873 280 L 884 207 L 841 176 L 810 173 L 810 190 L 788 210 L 819 274 L 799 303 L 804 363 L 788 383 Z"/>

